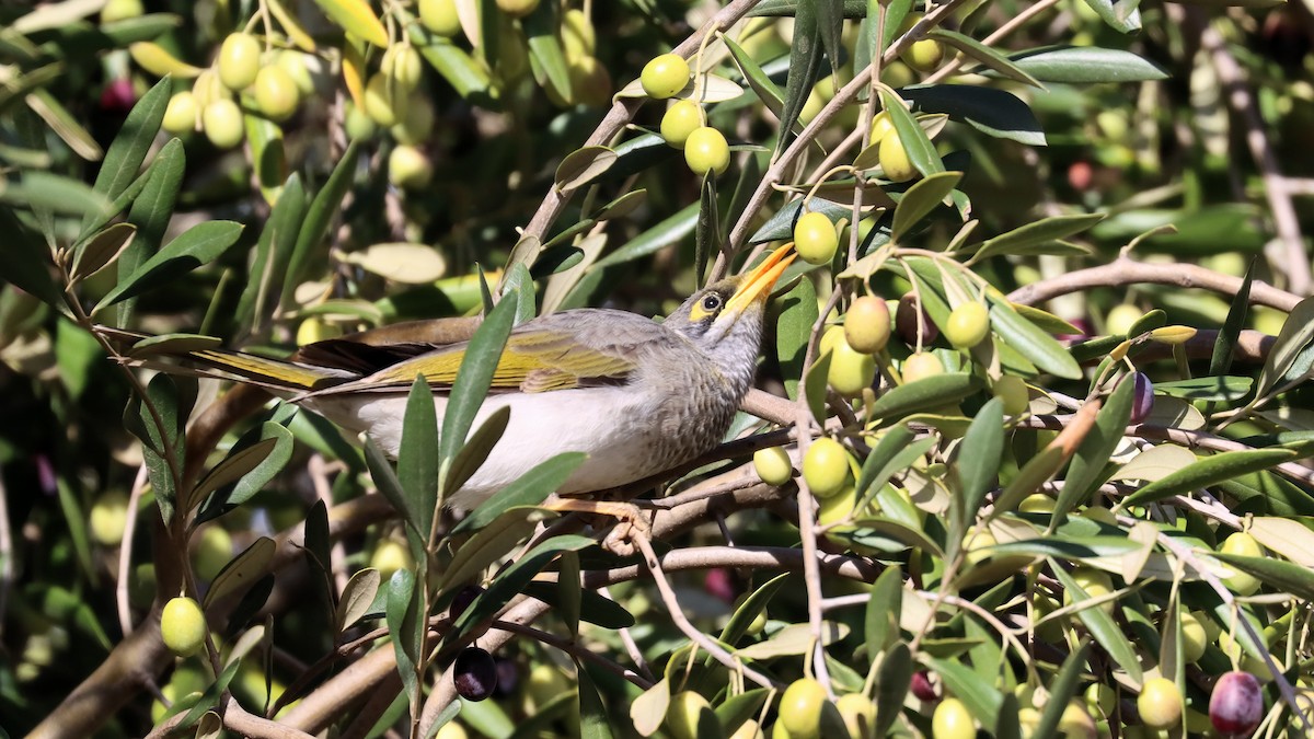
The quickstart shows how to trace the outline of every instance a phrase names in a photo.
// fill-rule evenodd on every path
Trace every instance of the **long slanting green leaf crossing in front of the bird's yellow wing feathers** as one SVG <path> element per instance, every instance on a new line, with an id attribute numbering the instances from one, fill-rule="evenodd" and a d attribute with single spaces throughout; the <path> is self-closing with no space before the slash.
<path id="1" fill-rule="evenodd" d="M 447 409 L 443 412 L 443 434 L 438 456 L 439 469 L 444 473 L 451 469 L 456 452 L 465 443 L 474 416 L 484 405 L 489 385 L 493 384 L 493 372 L 502 356 L 502 347 L 511 335 L 518 304 L 515 293 L 502 296 L 502 301 L 489 312 L 465 347 L 465 356 L 461 359 L 460 371 L 447 398 Z"/>

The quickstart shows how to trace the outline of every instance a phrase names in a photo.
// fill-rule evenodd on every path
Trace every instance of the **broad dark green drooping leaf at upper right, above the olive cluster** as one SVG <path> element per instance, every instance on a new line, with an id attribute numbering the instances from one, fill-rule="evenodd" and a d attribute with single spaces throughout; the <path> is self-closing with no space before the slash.
<path id="1" fill-rule="evenodd" d="M 901 93 L 905 100 L 924 113 L 946 113 L 950 118 L 967 122 L 976 130 L 996 138 L 1007 138 L 1028 146 L 1045 146 L 1045 130 L 1035 120 L 1035 114 L 1031 113 L 1026 103 L 1022 103 L 1012 92 L 992 87 L 937 84 L 905 87 Z M 904 135 L 901 128 L 899 137 L 907 145 L 908 137 Z M 916 160 L 913 162 L 916 163 Z M 937 171 L 943 171 L 943 167 Z"/>

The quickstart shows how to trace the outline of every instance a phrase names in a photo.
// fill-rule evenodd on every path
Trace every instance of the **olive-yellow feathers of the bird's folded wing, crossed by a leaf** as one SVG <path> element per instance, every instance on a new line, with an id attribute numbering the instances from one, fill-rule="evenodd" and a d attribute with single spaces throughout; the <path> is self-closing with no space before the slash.
<path id="1" fill-rule="evenodd" d="M 326 388 L 336 394 L 361 391 L 396 392 L 423 375 L 430 387 L 447 389 L 465 359 L 466 343 L 430 347 L 428 351 L 389 364 L 353 383 Z M 589 346 L 553 322 L 522 326 L 507 339 L 493 371 L 491 392 L 549 392 L 624 383 L 635 370 L 628 352 L 616 346 Z"/>

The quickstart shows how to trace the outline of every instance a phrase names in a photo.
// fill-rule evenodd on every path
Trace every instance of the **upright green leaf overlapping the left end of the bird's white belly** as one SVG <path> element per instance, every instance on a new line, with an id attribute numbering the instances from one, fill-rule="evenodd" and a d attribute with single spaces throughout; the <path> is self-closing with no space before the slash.
<path id="1" fill-rule="evenodd" d="M 434 529 L 434 515 L 439 501 L 438 485 L 438 409 L 434 406 L 434 392 L 423 375 L 417 375 L 406 397 L 406 414 L 402 421 L 402 442 L 397 451 L 397 480 L 406 496 L 406 508 L 415 515 L 415 529 L 419 534 L 411 539 L 411 555 L 419 561 L 428 547 L 430 533 Z"/>

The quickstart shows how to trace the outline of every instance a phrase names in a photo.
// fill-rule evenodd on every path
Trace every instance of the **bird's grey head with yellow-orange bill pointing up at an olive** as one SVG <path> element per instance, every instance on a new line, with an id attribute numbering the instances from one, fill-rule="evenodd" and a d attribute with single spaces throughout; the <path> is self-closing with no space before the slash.
<path id="1" fill-rule="evenodd" d="M 766 300 L 792 260 L 794 250 L 786 246 L 748 274 L 712 283 L 681 304 L 666 318 L 666 327 L 698 345 L 723 371 L 752 372 Z"/>

